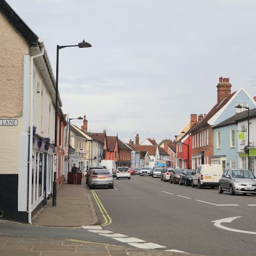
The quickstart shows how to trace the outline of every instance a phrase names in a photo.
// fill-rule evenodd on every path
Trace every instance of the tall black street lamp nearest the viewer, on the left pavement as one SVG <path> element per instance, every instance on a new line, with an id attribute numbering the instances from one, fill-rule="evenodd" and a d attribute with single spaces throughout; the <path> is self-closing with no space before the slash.
<path id="1" fill-rule="evenodd" d="M 55 156 L 56 156 L 56 167 L 57 167 L 57 124 L 58 124 L 58 84 L 59 84 L 59 50 L 65 47 L 75 47 L 87 48 L 92 47 L 91 44 L 86 43 L 84 40 L 82 43 L 76 45 L 57 45 L 57 60 L 56 60 L 56 85 L 55 85 L 55 134 L 54 134 L 54 146 L 55 146 Z M 53 195 L 52 195 L 52 205 L 56 206 L 56 196 L 57 196 L 57 180 L 56 180 L 56 171 L 54 172 L 54 181 L 53 181 Z"/>

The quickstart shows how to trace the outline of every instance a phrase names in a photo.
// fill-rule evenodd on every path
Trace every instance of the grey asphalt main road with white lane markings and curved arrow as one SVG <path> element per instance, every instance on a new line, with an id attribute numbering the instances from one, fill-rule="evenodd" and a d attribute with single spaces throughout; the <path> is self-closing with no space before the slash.
<path id="1" fill-rule="evenodd" d="M 161 250 L 255 255 L 256 196 L 221 195 L 217 189 L 179 186 L 140 176 L 115 179 L 114 186 L 92 190 L 107 212 L 102 214 L 99 202 L 94 200 L 99 216 L 105 215 L 100 218 L 105 230 L 165 246 Z M 212 222 L 230 217 L 240 218 Z"/>

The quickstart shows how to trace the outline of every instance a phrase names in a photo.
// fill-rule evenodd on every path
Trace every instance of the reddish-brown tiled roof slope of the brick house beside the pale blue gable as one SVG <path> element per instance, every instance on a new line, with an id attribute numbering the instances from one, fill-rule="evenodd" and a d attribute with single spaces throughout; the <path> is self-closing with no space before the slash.
<path id="1" fill-rule="evenodd" d="M 235 93 L 236 92 L 231 93 L 230 95 L 228 95 L 228 97 L 223 99 L 219 104 L 217 103 L 200 122 L 198 122 L 192 127 L 190 132 L 197 132 L 199 130 L 202 130 L 204 127 L 206 127 L 208 125 L 207 122 L 209 121 L 209 119 L 213 117 L 213 115 L 215 115 L 221 108 L 223 108 Z"/>

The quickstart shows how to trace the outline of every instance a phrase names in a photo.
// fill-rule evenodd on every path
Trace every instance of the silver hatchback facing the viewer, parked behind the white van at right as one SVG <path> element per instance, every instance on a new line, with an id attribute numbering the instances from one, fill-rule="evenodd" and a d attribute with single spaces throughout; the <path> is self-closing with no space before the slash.
<path id="1" fill-rule="evenodd" d="M 219 193 L 256 193 L 256 177 L 250 170 L 230 169 L 223 172 L 219 180 Z"/>

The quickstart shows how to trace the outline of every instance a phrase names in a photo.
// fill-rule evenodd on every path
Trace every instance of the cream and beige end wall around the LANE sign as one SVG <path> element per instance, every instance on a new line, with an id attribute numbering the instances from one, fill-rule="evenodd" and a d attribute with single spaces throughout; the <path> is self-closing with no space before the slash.
<path id="1" fill-rule="evenodd" d="M 23 58 L 29 49 L 2 13 L 0 35 L 0 118 L 18 119 L 17 126 L 0 126 L 0 174 L 17 174 L 23 116 Z"/>

